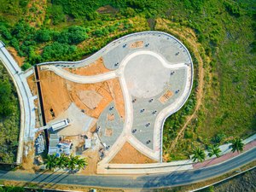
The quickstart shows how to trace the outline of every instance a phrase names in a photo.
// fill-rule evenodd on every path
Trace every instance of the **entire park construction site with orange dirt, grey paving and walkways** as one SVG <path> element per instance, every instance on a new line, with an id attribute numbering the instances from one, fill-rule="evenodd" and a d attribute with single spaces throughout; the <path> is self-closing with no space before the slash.
<path id="1" fill-rule="evenodd" d="M 163 32 L 119 38 L 83 61 L 38 64 L 27 77 L 37 110 L 34 159 L 74 154 L 86 174 L 162 161 L 165 119 L 187 100 L 189 51 Z"/>

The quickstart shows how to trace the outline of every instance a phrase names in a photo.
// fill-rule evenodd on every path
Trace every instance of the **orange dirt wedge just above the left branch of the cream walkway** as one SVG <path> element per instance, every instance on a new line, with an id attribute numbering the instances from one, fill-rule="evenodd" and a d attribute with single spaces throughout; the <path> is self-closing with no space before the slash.
<path id="1" fill-rule="evenodd" d="M 100 57 L 93 63 L 90 63 L 88 66 L 78 67 L 78 68 L 64 68 L 70 73 L 78 74 L 78 75 L 97 75 L 102 73 L 107 73 L 110 70 L 104 66 L 103 59 Z"/>

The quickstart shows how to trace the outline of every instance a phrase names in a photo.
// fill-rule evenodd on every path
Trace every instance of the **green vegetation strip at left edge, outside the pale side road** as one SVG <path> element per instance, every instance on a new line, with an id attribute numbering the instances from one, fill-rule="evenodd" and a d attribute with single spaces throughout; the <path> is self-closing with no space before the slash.
<path id="1" fill-rule="evenodd" d="M 0 163 L 16 159 L 20 131 L 20 110 L 15 85 L 0 61 Z"/>

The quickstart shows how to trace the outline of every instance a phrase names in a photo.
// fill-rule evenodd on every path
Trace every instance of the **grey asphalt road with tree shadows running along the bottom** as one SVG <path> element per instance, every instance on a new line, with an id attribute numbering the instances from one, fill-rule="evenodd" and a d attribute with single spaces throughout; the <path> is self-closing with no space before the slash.
<path id="1" fill-rule="evenodd" d="M 1 180 L 16 180 L 25 182 L 34 182 L 38 184 L 56 183 L 78 184 L 84 186 L 96 186 L 105 188 L 161 188 L 189 183 L 198 183 L 211 177 L 217 177 L 230 172 L 239 166 L 243 166 L 253 160 L 256 160 L 256 148 L 247 151 L 222 164 L 201 168 L 194 171 L 170 172 L 166 174 L 154 174 L 139 177 L 127 176 L 82 176 L 78 174 L 66 174 L 66 172 L 55 173 L 24 173 L 24 172 L 3 172 L 0 171 Z"/>

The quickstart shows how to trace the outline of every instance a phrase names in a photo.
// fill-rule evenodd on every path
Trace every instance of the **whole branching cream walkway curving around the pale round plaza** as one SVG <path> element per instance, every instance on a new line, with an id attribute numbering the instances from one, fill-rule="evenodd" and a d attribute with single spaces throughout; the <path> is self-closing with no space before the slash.
<path id="1" fill-rule="evenodd" d="M 186 86 L 185 86 L 185 89 L 183 90 L 182 96 L 180 96 L 175 103 L 172 103 L 171 106 L 162 110 L 155 119 L 157 123 L 156 125 L 154 125 L 154 148 L 153 149 L 148 148 L 145 144 L 141 143 L 131 133 L 131 129 L 133 125 L 133 107 L 131 102 L 131 93 L 128 90 L 128 87 L 125 81 L 124 71 L 127 63 L 137 55 L 152 55 L 160 61 L 163 67 L 166 67 L 168 69 L 178 69 L 181 67 L 185 67 L 189 70 L 187 75 Z M 163 56 L 148 50 L 140 50 L 130 55 L 127 55 L 125 59 L 121 61 L 119 68 L 117 70 L 111 71 L 109 73 L 103 73 L 101 75 L 96 75 L 96 76 L 76 75 L 76 74 L 67 72 L 61 67 L 55 67 L 54 65 L 44 65 L 44 66 L 41 66 L 41 69 L 53 71 L 55 74 L 61 76 L 61 78 L 63 79 L 67 79 L 67 80 L 70 80 L 76 83 L 82 83 L 82 84 L 92 84 L 92 83 L 102 82 L 108 79 L 114 79 L 116 77 L 119 77 L 121 89 L 125 99 L 125 114 L 126 114 L 125 125 L 124 125 L 123 132 L 119 136 L 118 140 L 113 144 L 113 146 L 108 150 L 108 152 L 106 152 L 106 156 L 99 163 L 98 165 L 99 170 L 101 170 L 102 167 L 105 167 L 105 164 L 107 164 L 108 161 L 110 161 L 113 158 L 113 156 L 119 152 L 120 148 L 122 148 L 125 142 L 131 143 L 131 145 L 134 148 L 137 148 L 138 151 L 140 151 L 142 154 L 145 154 L 152 160 L 155 160 L 155 161 L 161 160 L 161 137 L 162 137 L 161 129 L 164 123 L 163 119 L 165 119 L 170 114 L 175 113 L 178 110 L 178 108 L 182 107 L 183 103 L 186 101 L 186 99 L 189 96 L 189 91 L 191 89 L 192 78 L 193 78 L 190 75 L 192 73 L 191 71 L 192 67 L 189 67 L 189 64 L 170 63 L 166 61 Z"/>

